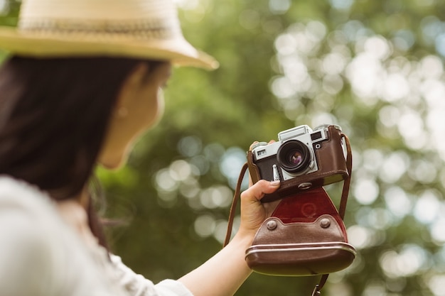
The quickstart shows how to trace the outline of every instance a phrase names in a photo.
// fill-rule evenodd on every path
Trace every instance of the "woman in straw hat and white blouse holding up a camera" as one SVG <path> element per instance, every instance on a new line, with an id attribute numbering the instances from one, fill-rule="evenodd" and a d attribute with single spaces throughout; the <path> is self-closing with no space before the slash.
<path id="1" fill-rule="evenodd" d="M 17 31 L 0 28 L 12 53 L 0 70 L 1 295 L 233 295 L 277 182 L 242 193 L 223 250 L 156 285 L 107 251 L 88 190 L 95 165 L 124 165 L 159 120 L 172 65 L 217 63 L 183 39 L 166 0 L 59 1 L 23 1 Z"/>

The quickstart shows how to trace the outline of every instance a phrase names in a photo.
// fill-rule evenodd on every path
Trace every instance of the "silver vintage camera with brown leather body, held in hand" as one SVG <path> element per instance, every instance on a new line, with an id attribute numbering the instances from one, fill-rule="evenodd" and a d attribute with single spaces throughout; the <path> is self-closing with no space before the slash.
<path id="1" fill-rule="evenodd" d="M 267 194 L 270 202 L 322 187 L 348 177 L 348 149 L 341 127 L 306 125 L 278 133 L 275 143 L 258 143 L 247 154 L 252 181 L 279 180 L 279 190 Z"/>

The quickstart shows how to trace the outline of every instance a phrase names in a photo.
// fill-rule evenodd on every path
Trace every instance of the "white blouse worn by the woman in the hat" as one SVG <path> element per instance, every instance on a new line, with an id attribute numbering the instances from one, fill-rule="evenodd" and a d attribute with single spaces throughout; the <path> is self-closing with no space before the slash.
<path id="1" fill-rule="evenodd" d="M 176 280 L 154 285 L 137 275 L 90 231 L 82 234 L 67 212 L 75 210 L 60 210 L 36 187 L 0 176 L 1 296 L 193 296 Z"/>

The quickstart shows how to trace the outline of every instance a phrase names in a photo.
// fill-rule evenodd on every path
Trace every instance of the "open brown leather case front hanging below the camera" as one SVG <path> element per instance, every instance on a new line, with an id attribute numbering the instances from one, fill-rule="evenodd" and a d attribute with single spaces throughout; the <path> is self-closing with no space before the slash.
<path id="1" fill-rule="evenodd" d="M 345 226 L 323 188 L 282 199 L 247 248 L 252 270 L 267 275 L 322 275 L 355 258 Z"/>

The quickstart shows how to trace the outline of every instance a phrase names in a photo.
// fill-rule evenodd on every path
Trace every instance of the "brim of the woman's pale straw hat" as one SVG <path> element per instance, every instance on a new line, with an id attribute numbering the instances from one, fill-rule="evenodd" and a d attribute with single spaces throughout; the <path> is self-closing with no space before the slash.
<path id="1" fill-rule="evenodd" d="M 218 62 L 185 39 L 138 40 L 119 35 L 36 34 L 0 27 L 0 48 L 32 57 L 110 56 L 169 60 L 173 65 L 218 68 Z"/>

